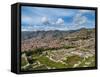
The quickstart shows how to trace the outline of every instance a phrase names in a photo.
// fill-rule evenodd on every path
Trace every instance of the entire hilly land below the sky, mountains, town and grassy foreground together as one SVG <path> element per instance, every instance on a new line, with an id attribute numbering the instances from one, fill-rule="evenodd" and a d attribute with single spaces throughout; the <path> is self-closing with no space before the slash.
<path id="1" fill-rule="evenodd" d="M 95 29 L 22 32 L 22 70 L 95 66 Z"/>

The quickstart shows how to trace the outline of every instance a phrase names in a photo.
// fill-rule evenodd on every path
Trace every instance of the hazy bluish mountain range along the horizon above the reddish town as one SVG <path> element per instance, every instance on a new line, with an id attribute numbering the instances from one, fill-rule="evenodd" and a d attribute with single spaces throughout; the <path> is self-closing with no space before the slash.
<path id="1" fill-rule="evenodd" d="M 53 38 L 61 38 L 65 36 L 80 36 L 89 33 L 95 33 L 95 29 L 86 29 L 81 28 L 78 30 L 69 30 L 69 31 L 60 31 L 60 30 L 49 30 L 49 31 L 22 31 L 22 40 L 27 40 L 31 38 L 40 38 L 43 39 L 45 37 L 53 37 Z M 92 36 L 92 35 L 91 35 Z"/>

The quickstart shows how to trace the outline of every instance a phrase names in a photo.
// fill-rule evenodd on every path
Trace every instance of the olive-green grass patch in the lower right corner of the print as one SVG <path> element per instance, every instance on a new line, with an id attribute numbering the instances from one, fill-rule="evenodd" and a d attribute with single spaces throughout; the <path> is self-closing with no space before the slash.
<path id="1" fill-rule="evenodd" d="M 95 66 L 95 56 L 88 57 L 88 58 L 85 58 L 84 61 L 83 60 L 84 58 L 74 55 L 74 56 L 67 57 L 67 59 L 64 60 L 64 62 L 68 64 L 67 66 L 68 68 L 73 68 L 73 65 L 77 64 L 79 61 L 81 62 L 81 64 L 79 64 L 79 66 L 77 67 L 84 67 L 84 66 L 94 67 Z M 86 63 L 90 63 L 90 64 L 86 64 Z"/>

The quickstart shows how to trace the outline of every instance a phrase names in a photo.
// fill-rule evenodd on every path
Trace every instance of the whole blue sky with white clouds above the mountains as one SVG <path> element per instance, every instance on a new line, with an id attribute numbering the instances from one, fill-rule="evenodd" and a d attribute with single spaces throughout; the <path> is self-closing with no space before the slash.
<path id="1" fill-rule="evenodd" d="M 22 31 L 95 28 L 95 11 L 44 7 L 21 7 Z"/>

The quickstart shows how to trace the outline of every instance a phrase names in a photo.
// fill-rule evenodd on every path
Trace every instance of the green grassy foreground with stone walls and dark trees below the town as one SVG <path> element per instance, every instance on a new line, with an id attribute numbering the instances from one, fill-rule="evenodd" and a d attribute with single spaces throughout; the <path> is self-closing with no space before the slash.
<path id="1" fill-rule="evenodd" d="M 65 46 L 65 49 L 75 48 L 74 46 Z M 60 48 L 58 48 L 60 49 Z M 77 67 L 94 67 L 95 66 L 95 56 L 91 57 L 81 57 L 79 55 L 72 55 L 64 57 L 64 60 L 54 61 L 50 58 L 52 51 L 57 51 L 57 48 L 48 49 L 34 49 L 30 52 L 24 52 L 24 57 L 21 58 L 22 70 L 44 70 L 44 69 L 60 69 L 60 68 L 77 68 Z M 49 54 L 43 54 L 43 52 L 49 52 Z M 58 52 L 56 52 L 58 53 Z M 60 55 L 60 54 L 59 54 Z M 47 57 L 48 56 L 48 57 Z"/>

